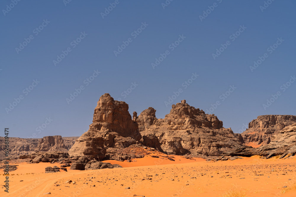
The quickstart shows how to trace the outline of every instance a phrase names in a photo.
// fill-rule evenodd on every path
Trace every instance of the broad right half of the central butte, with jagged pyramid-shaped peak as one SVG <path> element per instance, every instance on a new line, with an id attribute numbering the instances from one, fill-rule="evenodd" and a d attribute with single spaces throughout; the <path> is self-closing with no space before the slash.
<path id="1" fill-rule="evenodd" d="M 243 147 L 240 134 L 235 135 L 230 128 L 223 127 L 217 116 L 205 114 L 203 110 L 188 105 L 186 100 L 172 105 L 164 119 L 157 119 L 155 111 L 153 108 L 144 110 L 136 121 L 143 143 L 151 144 L 144 136 L 155 135 L 165 153 L 218 156 Z"/>

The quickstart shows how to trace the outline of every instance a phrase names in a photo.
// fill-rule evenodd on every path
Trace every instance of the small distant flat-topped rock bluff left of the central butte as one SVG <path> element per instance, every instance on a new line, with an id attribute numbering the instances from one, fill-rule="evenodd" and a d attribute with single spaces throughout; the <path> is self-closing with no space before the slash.
<path id="1" fill-rule="evenodd" d="M 45 136 L 40 139 L 36 151 L 67 151 L 62 136 Z"/>

